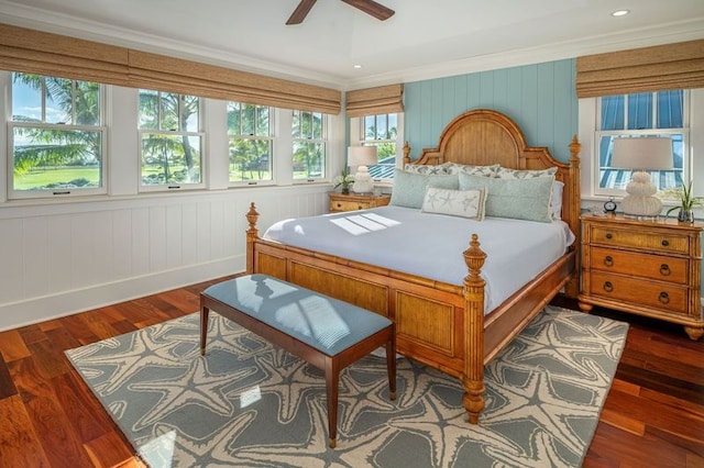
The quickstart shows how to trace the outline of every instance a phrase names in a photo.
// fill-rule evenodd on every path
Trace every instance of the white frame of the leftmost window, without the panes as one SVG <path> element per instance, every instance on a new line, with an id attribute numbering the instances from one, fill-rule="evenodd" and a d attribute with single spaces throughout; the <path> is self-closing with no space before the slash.
<path id="1" fill-rule="evenodd" d="M 75 122 L 75 105 L 74 115 L 72 116 L 72 123 L 50 123 L 46 122 L 46 93 L 42 91 L 42 121 L 41 122 L 15 122 L 12 120 L 12 71 L 0 71 L 0 81 L 7 83 L 7 192 L 9 200 L 28 200 L 28 199 L 57 199 L 57 198 L 74 198 L 74 197 L 87 197 L 87 196 L 103 196 L 108 193 L 108 126 L 106 125 L 107 114 L 107 92 L 106 86 L 98 82 L 99 86 L 99 99 L 100 99 L 100 124 L 99 125 L 78 125 Z M 44 78 L 53 78 L 45 77 Z M 85 80 L 72 80 L 75 88 L 76 81 Z M 96 81 L 94 81 L 96 82 Z M 75 92 L 72 98 L 76 99 Z M 57 188 L 57 189 L 37 189 L 37 190 L 15 190 L 14 189 L 14 130 L 18 127 L 28 129 L 46 129 L 46 130 L 61 130 L 61 131 L 86 131 L 96 132 L 100 134 L 100 177 L 102 183 L 100 187 L 90 188 Z"/>

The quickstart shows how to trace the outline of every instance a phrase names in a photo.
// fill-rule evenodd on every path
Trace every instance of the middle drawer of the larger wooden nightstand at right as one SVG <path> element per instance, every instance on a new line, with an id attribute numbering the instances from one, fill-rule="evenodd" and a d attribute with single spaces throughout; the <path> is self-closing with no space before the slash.
<path id="1" fill-rule="evenodd" d="M 639 252 L 592 247 L 591 267 L 595 270 L 632 275 L 686 285 L 690 263 L 686 258 L 648 255 Z"/>

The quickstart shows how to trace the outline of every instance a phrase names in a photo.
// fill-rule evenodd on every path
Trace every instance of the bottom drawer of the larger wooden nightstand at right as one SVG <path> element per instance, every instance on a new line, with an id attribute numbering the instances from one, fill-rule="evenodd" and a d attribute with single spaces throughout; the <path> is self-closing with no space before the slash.
<path id="1" fill-rule="evenodd" d="M 688 313 L 688 289 L 670 283 L 590 272 L 590 294 L 616 301 L 628 301 L 672 313 Z"/>

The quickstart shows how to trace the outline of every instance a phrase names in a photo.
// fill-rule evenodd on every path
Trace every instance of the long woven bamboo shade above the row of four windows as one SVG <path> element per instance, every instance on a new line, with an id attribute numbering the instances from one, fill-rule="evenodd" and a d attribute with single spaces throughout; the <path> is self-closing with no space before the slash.
<path id="1" fill-rule="evenodd" d="M 338 114 L 341 92 L 0 24 L 0 69 Z"/>

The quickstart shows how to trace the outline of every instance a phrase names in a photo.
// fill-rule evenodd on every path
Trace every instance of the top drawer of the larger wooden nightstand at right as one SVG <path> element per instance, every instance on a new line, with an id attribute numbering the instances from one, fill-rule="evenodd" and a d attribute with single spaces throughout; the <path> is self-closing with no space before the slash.
<path id="1" fill-rule="evenodd" d="M 632 230 L 593 226 L 590 243 L 614 247 L 647 248 L 660 252 L 690 253 L 690 241 L 685 235 L 634 232 Z"/>

